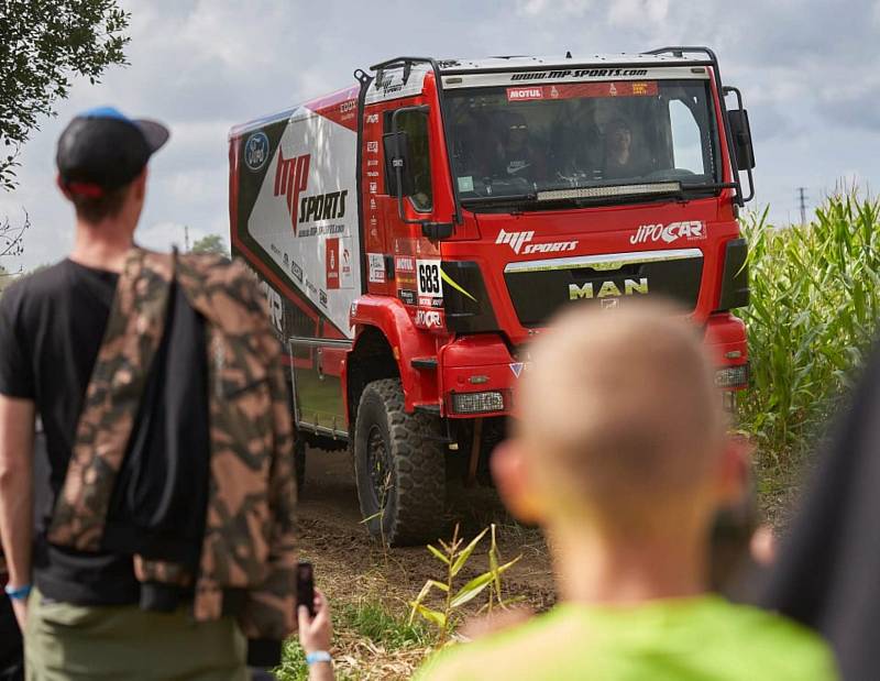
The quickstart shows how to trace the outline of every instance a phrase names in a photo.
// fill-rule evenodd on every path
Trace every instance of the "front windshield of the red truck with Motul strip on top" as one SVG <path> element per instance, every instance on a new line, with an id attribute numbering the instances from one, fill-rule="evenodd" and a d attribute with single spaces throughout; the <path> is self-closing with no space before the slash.
<path id="1" fill-rule="evenodd" d="M 447 90 L 463 202 L 537 191 L 721 182 L 708 80 Z"/>

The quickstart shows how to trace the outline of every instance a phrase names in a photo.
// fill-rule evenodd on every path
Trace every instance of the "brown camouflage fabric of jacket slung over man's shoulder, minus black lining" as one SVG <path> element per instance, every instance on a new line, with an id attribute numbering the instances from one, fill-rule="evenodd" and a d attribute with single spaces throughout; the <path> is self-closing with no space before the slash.
<path id="1" fill-rule="evenodd" d="M 224 590 L 245 590 L 239 616 L 250 638 L 295 629 L 293 433 L 280 345 L 252 276 L 211 255 L 133 249 L 117 285 L 48 539 L 99 550 L 113 484 L 163 337 L 176 279 L 206 320 L 210 473 L 197 574 L 134 557 L 142 582 L 195 587 L 194 616 L 224 614 Z"/>

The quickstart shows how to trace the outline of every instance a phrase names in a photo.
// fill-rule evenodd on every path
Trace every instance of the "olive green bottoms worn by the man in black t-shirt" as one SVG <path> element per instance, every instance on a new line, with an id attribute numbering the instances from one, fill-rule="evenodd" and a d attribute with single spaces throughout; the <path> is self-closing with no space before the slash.
<path id="1" fill-rule="evenodd" d="M 28 602 L 29 681 L 245 681 L 246 652 L 248 641 L 230 617 L 195 623 L 185 608 L 72 605 L 46 601 L 36 590 Z"/>

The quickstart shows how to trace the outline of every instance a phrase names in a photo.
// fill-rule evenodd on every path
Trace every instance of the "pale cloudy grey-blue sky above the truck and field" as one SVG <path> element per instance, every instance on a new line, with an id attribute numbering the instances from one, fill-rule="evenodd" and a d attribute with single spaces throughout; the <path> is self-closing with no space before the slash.
<path id="1" fill-rule="evenodd" d="M 24 218 L 26 268 L 64 257 L 73 211 L 54 185 L 55 143 L 77 112 L 112 105 L 155 118 L 172 140 L 151 162 L 138 239 L 167 249 L 209 233 L 228 240 L 227 133 L 240 122 L 350 85 L 355 68 L 396 55 L 482 57 L 642 52 L 708 45 L 749 110 L 756 201 L 799 220 L 842 182 L 880 177 L 880 0 L 145 0 L 131 12 L 128 66 L 75 81 L 41 120 L 0 190 L 0 218 Z"/>

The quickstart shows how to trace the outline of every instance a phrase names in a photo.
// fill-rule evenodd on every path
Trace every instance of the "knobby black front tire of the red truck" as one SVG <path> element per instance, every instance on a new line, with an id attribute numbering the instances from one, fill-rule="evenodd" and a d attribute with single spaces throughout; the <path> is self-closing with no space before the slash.
<path id="1" fill-rule="evenodd" d="M 440 419 L 407 414 L 397 378 L 369 383 L 354 428 L 354 474 L 361 513 L 388 546 L 442 536 L 446 503 Z"/>

